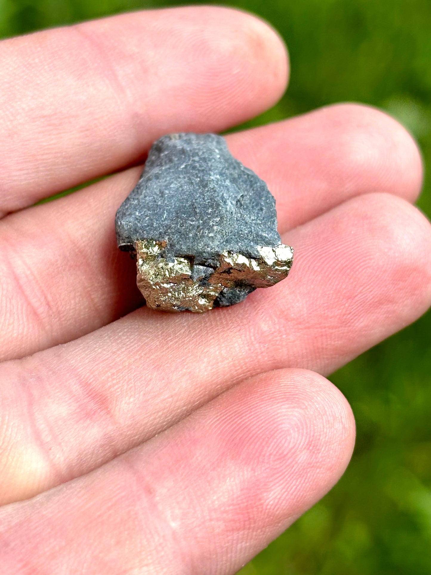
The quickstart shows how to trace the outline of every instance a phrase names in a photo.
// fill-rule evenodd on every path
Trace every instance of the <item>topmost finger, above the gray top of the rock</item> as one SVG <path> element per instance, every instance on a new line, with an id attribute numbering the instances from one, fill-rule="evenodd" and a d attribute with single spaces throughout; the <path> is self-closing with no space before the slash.
<path id="1" fill-rule="evenodd" d="M 221 131 L 283 93 L 286 50 L 240 11 L 141 11 L 0 43 L 0 214 Z"/>

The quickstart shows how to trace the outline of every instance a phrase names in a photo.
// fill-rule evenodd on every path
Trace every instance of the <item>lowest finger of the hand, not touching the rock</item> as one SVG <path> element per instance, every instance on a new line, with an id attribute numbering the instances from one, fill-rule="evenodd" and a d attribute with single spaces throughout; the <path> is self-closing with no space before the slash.
<path id="1" fill-rule="evenodd" d="M 16 575 L 236 573 L 338 480 L 354 434 L 324 378 L 260 375 L 88 476 L 3 508 L 1 564 Z"/>

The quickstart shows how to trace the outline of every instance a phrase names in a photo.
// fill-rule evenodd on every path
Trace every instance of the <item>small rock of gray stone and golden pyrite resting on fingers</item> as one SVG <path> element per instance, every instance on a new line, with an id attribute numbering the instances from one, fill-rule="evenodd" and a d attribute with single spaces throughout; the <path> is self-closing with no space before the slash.
<path id="1" fill-rule="evenodd" d="M 280 243 L 267 185 L 215 134 L 153 144 L 116 216 L 118 247 L 137 259 L 147 305 L 206 312 L 284 279 L 293 250 Z"/>

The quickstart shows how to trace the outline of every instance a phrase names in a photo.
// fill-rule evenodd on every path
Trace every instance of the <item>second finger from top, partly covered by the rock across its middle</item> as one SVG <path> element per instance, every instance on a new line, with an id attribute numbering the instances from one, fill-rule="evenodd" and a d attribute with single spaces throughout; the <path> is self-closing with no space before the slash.
<path id="1" fill-rule="evenodd" d="M 367 191 L 414 200 L 420 190 L 413 140 L 365 106 L 324 108 L 228 136 L 228 143 L 268 182 L 281 231 Z M 2 359 L 78 338 L 140 304 L 134 263 L 118 251 L 114 234 L 116 210 L 140 170 L 2 221 Z"/>

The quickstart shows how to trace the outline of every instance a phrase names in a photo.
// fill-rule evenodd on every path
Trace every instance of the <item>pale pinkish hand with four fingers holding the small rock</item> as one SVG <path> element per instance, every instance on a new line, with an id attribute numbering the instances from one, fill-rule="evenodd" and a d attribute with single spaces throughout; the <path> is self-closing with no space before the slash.
<path id="1" fill-rule="evenodd" d="M 4 40 L 0 61 L 2 575 L 233 574 L 348 464 L 353 415 L 324 375 L 431 303 L 417 147 L 355 104 L 226 137 L 276 198 L 291 275 L 163 315 L 116 247 L 130 166 L 275 104 L 279 37 L 185 7 Z"/>

